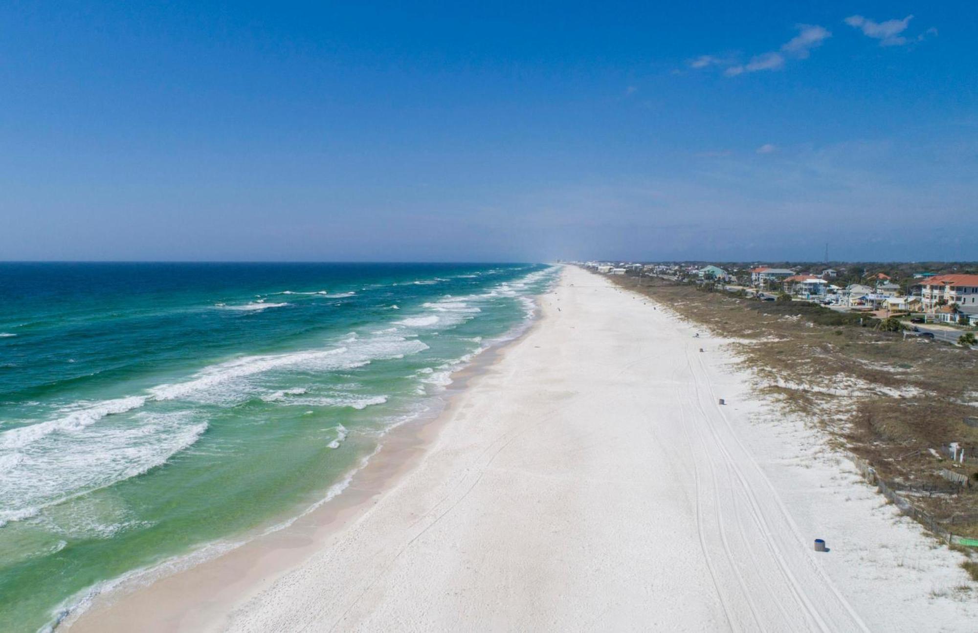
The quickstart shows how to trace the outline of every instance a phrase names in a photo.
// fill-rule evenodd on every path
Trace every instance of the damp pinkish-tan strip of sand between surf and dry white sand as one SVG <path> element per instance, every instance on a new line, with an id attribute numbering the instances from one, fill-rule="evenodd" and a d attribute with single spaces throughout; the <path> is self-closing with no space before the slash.
<path id="1" fill-rule="evenodd" d="M 421 458 L 425 447 L 448 422 L 453 406 L 468 386 L 498 362 L 507 348 L 539 326 L 543 315 L 537 300 L 551 290 L 549 288 L 534 296 L 532 316 L 513 326 L 514 332 L 499 337 L 494 344 L 485 347 L 451 373 L 452 383 L 434 397 L 440 403 L 432 403 L 416 418 L 390 427 L 384 432 L 377 448 L 361 458 L 359 466 L 326 488 L 322 500 L 295 516 L 272 519 L 265 527 L 253 528 L 241 535 L 240 539 L 229 537 L 227 540 L 204 543 L 193 552 L 176 557 L 176 570 L 163 570 L 174 560 L 167 559 L 153 568 L 129 572 L 135 572 L 133 577 L 123 575 L 114 581 L 106 581 L 111 584 L 109 589 L 75 603 L 67 615 L 54 624 L 54 629 L 91 630 L 96 633 L 107 629 L 124 631 L 127 630 L 126 623 L 133 621 L 134 617 L 143 618 L 147 613 L 157 611 L 170 613 L 156 618 L 158 630 L 194 630 L 215 624 L 220 620 L 212 613 L 215 609 L 240 602 L 232 596 L 256 593 L 267 575 L 277 576 L 297 565 L 334 532 L 366 512 L 372 505 L 372 499 L 383 494 L 388 487 L 396 484 L 399 477 L 410 471 Z M 342 487 L 333 493 L 337 485 Z M 188 563 L 194 557 L 203 555 L 207 548 L 218 545 L 226 545 L 227 548 L 211 556 L 204 555 L 200 562 Z M 257 568 L 260 565 L 267 568 L 259 571 Z M 189 605 L 196 601 L 200 584 L 212 589 L 208 583 L 215 575 L 222 574 L 234 579 L 222 582 L 221 589 L 212 592 L 217 594 L 217 600 L 208 600 L 207 607 L 175 613 L 179 611 L 177 605 Z M 78 610 L 78 606 L 86 601 L 88 604 Z"/>

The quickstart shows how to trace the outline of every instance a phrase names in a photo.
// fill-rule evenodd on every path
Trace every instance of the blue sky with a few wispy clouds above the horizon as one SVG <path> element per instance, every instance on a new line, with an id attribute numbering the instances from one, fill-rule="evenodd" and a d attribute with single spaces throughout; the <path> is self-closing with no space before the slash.
<path id="1" fill-rule="evenodd" d="M 978 259 L 974 3 L 344 4 L 3 3 L 0 259 Z"/>

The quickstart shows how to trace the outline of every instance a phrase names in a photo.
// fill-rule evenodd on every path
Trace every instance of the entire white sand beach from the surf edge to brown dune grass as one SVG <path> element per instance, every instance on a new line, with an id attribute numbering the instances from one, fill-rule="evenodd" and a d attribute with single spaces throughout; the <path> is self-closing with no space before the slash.
<path id="1" fill-rule="evenodd" d="M 974 628 L 959 555 L 753 400 L 723 341 L 573 268 L 540 305 L 333 502 L 71 630 Z"/>

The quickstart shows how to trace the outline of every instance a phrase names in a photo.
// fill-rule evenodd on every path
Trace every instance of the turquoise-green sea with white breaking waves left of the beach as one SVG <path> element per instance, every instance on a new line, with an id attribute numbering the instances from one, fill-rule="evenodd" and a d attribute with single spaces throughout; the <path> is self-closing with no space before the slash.
<path id="1" fill-rule="evenodd" d="M 0 264 L 0 630 L 335 493 L 555 273 Z"/>

